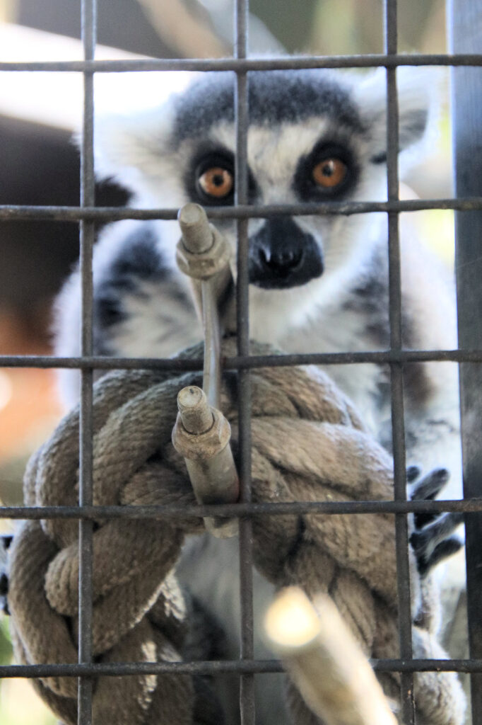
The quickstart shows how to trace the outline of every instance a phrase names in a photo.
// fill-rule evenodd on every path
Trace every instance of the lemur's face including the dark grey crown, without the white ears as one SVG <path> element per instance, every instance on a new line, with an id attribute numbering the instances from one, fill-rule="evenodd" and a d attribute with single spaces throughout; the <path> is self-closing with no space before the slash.
<path id="1" fill-rule="evenodd" d="M 324 202 L 363 194 L 367 128 L 347 90 L 319 73 L 251 74 L 249 86 L 250 204 Z M 174 144 L 187 159 L 185 193 L 205 206 L 234 203 L 232 108 L 229 77 L 224 84 L 211 82 L 209 92 L 201 80 L 177 105 Z M 342 257 L 347 262 L 350 226 L 349 219 L 334 215 L 250 220 L 250 282 L 270 291 L 297 288 L 299 297 L 300 287 L 312 283 L 311 289 L 321 276 L 333 273 Z M 359 226 L 360 220 L 358 231 Z M 235 247 L 235 225 L 221 228 Z"/>

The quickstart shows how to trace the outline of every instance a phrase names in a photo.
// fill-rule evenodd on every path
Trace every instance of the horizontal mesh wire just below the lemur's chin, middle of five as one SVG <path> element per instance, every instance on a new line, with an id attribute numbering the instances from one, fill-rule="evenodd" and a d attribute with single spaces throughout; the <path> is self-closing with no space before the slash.
<path id="1" fill-rule="evenodd" d="M 482 363 L 480 350 L 373 350 L 367 352 L 306 352 L 289 355 L 224 357 L 223 370 L 288 368 L 292 365 L 358 365 L 374 363 Z M 0 355 L 0 368 L 94 368 L 96 370 L 202 370 L 203 359 L 183 357 L 55 357 Z"/>

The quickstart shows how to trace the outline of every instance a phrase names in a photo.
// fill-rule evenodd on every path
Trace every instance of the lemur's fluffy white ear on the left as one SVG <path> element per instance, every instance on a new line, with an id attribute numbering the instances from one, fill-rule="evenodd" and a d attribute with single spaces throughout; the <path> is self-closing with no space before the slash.
<path id="1" fill-rule="evenodd" d="M 124 186 L 135 187 L 140 175 L 155 174 L 158 159 L 169 144 L 173 119 L 169 101 L 143 112 L 96 117 L 96 175 L 118 178 Z"/>

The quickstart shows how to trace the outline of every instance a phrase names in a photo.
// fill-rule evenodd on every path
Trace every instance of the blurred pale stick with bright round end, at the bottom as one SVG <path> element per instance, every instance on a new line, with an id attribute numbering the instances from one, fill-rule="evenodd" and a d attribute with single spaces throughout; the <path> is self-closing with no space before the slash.
<path id="1" fill-rule="evenodd" d="M 317 597 L 315 609 L 301 589 L 284 589 L 264 624 L 272 650 L 326 725 L 397 725 L 370 663 L 330 597 Z"/>

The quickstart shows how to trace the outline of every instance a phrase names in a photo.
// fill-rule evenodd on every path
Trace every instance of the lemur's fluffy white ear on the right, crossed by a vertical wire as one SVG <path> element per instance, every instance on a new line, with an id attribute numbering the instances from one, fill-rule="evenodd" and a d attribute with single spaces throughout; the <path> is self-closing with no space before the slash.
<path id="1" fill-rule="evenodd" d="M 436 129 L 441 74 L 434 68 L 397 68 L 400 165 L 420 156 L 423 142 Z M 355 98 L 371 136 L 371 159 L 386 160 L 386 71 L 379 68 L 355 87 Z M 416 147 L 416 152 L 415 152 Z M 415 152 L 415 153 L 412 153 Z"/>

